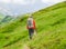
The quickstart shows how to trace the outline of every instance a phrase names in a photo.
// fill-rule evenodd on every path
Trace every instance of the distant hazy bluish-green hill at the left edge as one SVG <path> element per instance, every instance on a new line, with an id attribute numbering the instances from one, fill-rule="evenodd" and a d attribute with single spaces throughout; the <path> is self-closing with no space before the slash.
<path id="1" fill-rule="evenodd" d="M 0 16 L 1 19 L 0 19 L 0 27 L 4 27 L 6 24 L 10 23 L 13 21 L 13 17 L 11 16 Z"/>

